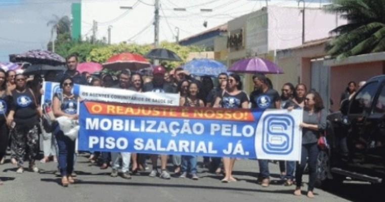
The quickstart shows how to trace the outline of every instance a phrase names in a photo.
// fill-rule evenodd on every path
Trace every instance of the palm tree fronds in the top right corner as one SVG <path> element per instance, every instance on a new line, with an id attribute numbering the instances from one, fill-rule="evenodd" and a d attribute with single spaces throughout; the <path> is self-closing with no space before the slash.
<path id="1" fill-rule="evenodd" d="M 326 46 L 332 58 L 385 51 L 385 0 L 332 0 L 325 10 L 348 20 L 330 31 L 337 34 Z"/>

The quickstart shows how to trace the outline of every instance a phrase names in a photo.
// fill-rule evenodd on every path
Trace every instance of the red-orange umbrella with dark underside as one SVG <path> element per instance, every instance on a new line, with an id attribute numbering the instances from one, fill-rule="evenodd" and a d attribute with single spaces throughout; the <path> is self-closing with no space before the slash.
<path id="1" fill-rule="evenodd" d="M 151 64 L 141 55 L 121 53 L 109 58 L 105 63 L 103 63 L 103 67 L 118 71 L 124 69 L 138 71 L 146 67 L 151 67 Z"/>

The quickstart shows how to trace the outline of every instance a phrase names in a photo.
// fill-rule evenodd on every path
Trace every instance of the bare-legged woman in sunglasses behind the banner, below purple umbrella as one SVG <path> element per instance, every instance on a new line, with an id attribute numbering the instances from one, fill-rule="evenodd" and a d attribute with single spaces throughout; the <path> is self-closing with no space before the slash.
<path id="1" fill-rule="evenodd" d="M 226 90 L 216 98 L 214 103 L 214 108 L 228 108 L 228 109 L 238 109 L 244 108 L 248 109 L 249 99 L 247 94 L 242 90 L 241 78 L 237 74 L 230 74 L 227 79 Z M 232 176 L 233 167 L 235 164 L 235 158 L 223 158 L 223 165 L 225 169 L 225 178 L 222 179 L 222 182 L 235 182 L 237 181 Z"/>

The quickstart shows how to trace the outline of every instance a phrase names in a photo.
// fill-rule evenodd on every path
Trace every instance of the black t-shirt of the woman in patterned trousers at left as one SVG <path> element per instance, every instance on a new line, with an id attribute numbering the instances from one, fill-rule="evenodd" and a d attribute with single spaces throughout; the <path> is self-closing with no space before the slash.
<path id="1" fill-rule="evenodd" d="M 28 88 L 24 92 L 12 90 L 13 105 L 15 106 L 14 120 L 16 126 L 34 126 L 38 123 L 36 103 L 31 90 Z"/>

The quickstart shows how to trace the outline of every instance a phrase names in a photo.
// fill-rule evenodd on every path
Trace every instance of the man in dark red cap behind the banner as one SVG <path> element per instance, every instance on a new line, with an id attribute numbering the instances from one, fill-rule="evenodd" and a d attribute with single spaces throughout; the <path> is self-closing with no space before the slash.
<path id="1" fill-rule="evenodd" d="M 164 74 L 166 70 L 162 66 L 154 67 L 152 71 L 153 80 L 143 85 L 143 92 L 160 92 L 160 93 L 176 93 L 177 90 L 172 84 L 164 81 Z M 152 171 L 150 177 L 155 177 L 158 174 L 157 170 L 158 155 L 151 155 Z M 160 155 L 160 178 L 170 179 L 170 174 L 166 170 L 167 155 Z"/>

